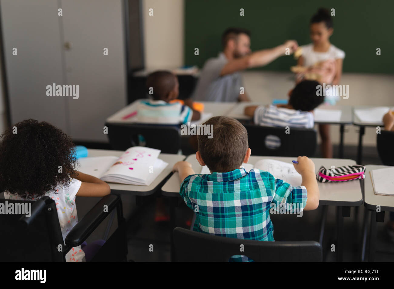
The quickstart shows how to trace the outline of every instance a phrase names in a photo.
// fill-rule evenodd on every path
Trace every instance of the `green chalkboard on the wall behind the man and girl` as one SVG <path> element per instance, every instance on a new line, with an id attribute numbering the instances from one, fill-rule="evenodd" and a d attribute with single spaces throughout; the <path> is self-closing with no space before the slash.
<path id="1" fill-rule="evenodd" d="M 271 48 L 286 39 L 308 44 L 309 21 L 320 7 L 335 9 L 330 41 L 346 53 L 344 72 L 394 73 L 391 0 L 185 0 L 185 65 L 201 68 L 216 57 L 228 27 L 249 29 L 252 50 Z M 199 55 L 194 55 L 196 47 Z M 376 55 L 377 48 L 381 55 Z M 260 69 L 289 71 L 295 63 L 292 55 L 283 56 Z"/>

